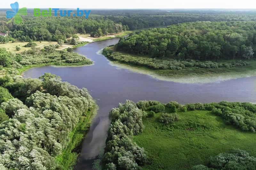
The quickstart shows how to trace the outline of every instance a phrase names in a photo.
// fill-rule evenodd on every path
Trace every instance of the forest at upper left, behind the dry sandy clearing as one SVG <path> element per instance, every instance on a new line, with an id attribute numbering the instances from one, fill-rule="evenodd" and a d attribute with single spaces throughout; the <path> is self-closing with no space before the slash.
<path id="1" fill-rule="evenodd" d="M 3 18 L 3 17 L 2 17 Z M 3 18 L 3 20 L 5 20 Z M 19 25 L 3 24 L 2 32 L 20 41 L 66 41 L 73 34 L 89 33 L 92 36 L 120 33 L 128 30 L 128 26 L 115 23 L 110 19 L 99 17 L 84 19 L 82 17 L 24 17 Z"/>

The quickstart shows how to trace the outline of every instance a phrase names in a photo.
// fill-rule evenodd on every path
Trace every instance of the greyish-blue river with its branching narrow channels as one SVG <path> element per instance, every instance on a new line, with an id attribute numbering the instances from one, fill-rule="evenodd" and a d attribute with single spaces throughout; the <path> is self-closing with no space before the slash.
<path id="1" fill-rule="evenodd" d="M 76 48 L 77 53 L 86 55 L 94 61 L 92 66 L 62 68 L 45 66 L 24 73 L 26 77 L 38 78 L 45 72 L 51 72 L 79 88 L 86 87 L 97 100 L 100 109 L 83 141 L 75 169 L 92 169 L 93 161 L 105 144 L 109 126 L 108 113 L 112 107 L 117 107 L 119 102 L 125 102 L 126 99 L 135 102 L 159 100 L 163 103 L 174 100 L 182 104 L 221 100 L 256 102 L 256 77 L 220 83 L 183 84 L 156 80 L 144 74 L 111 66 L 105 56 L 96 52 L 117 41 L 118 38 L 115 38 Z"/>

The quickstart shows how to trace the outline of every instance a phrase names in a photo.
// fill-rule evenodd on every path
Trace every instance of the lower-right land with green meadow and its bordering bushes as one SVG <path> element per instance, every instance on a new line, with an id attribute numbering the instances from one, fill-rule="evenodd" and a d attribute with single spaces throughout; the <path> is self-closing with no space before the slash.
<path id="1" fill-rule="evenodd" d="M 254 169 L 255 113 L 251 103 L 127 100 L 109 114 L 103 165 L 127 170 Z"/>

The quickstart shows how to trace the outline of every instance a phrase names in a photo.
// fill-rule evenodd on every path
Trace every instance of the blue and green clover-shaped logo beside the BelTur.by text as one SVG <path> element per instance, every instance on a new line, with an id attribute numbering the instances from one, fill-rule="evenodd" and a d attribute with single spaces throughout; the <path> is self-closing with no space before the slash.
<path id="1" fill-rule="evenodd" d="M 11 8 L 13 11 L 6 11 L 6 18 L 7 19 L 14 18 L 15 24 L 20 24 L 22 22 L 22 18 L 20 17 L 20 15 L 27 15 L 27 8 L 24 7 L 19 10 L 18 2 L 11 4 Z M 10 23 L 12 19 L 8 21 L 7 24 Z"/>

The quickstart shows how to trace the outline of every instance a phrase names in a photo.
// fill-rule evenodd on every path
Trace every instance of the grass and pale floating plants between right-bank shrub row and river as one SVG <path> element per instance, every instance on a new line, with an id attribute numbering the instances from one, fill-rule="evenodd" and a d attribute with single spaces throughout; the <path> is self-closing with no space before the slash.
<path id="1" fill-rule="evenodd" d="M 110 48 L 113 50 L 113 47 Z M 115 52 L 113 50 L 113 52 Z M 104 53 L 103 53 L 104 54 Z M 120 53 L 123 55 L 129 55 L 127 53 Z M 105 56 L 107 56 L 105 54 Z M 140 55 L 130 55 L 132 57 L 136 57 L 137 59 L 143 61 L 144 59 L 148 59 L 148 56 L 140 56 Z M 219 68 L 183 68 L 183 69 L 151 69 L 146 66 L 132 64 L 132 62 L 127 63 L 127 61 L 117 61 L 112 58 L 107 58 L 111 61 L 112 65 L 128 69 L 134 72 L 147 74 L 153 78 L 165 80 L 165 81 L 174 81 L 181 83 L 208 83 L 208 82 L 216 82 L 216 81 L 224 81 L 233 78 L 242 78 L 242 77 L 251 77 L 256 74 L 256 60 L 246 60 L 248 65 L 246 66 L 235 66 L 235 67 L 219 67 Z M 159 60 L 159 62 L 163 62 L 163 60 Z M 217 64 L 229 64 L 234 62 L 235 60 L 218 60 L 212 61 Z"/>

